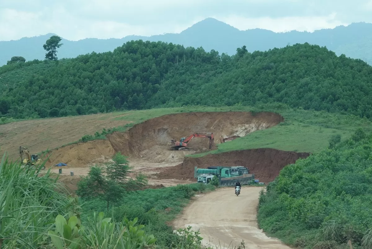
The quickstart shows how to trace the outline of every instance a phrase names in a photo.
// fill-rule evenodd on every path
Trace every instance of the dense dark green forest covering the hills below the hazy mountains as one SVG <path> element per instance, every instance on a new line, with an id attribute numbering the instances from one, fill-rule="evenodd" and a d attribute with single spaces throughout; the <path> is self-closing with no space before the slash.
<path id="1" fill-rule="evenodd" d="M 316 45 L 233 56 L 164 42 L 0 68 L 0 113 L 55 117 L 182 105 L 291 107 L 372 116 L 372 67 Z"/>

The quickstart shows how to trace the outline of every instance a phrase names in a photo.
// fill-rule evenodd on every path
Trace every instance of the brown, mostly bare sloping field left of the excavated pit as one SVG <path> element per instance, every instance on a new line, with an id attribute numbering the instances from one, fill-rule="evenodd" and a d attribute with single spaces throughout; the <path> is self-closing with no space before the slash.
<path id="1" fill-rule="evenodd" d="M 122 126 L 129 121 L 115 120 L 112 113 L 91 114 L 52 119 L 35 119 L 12 122 L 0 126 L 0 148 L 9 158 L 19 158 L 19 146 L 28 147 L 32 154 L 54 149 L 94 134 L 103 128 Z"/>

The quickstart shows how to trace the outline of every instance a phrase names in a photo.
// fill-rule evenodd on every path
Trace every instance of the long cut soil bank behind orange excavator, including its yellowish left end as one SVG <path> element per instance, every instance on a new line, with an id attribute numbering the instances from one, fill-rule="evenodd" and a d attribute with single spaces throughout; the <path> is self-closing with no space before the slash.
<path id="1" fill-rule="evenodd" d="M 185 155 L 195 152 L 170 151 L 169 142 L 172 139 L 179 140 L 193 133 L 213 132 L 215 139 L 212 149 L 215 149 L 221 136 L 245 136 L 256 130 L 275 126 L 283 120 L 279 114 L 270 112 L 254 115 L 243 111 L 169 114 L 134 125 L 126 132 L 109 134 L 108 140 L 77 143 L 54 150 L 48 166 L 59 162 L 71 167 L 89 166 L 94 159 L 112 156 L 115 152 L 129 156 L 132 161 L 140 159 L 156 163 L 174 163 L 183 161 Z M 189 147 L 206 151 L 209 139 L 193 138 Z"/>

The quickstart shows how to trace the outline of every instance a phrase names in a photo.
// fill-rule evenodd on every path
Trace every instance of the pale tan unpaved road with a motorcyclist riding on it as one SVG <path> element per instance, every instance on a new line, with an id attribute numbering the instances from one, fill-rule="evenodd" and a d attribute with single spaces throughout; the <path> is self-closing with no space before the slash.
<path id="1" fill-rule="evenodd" d="M 259 187 L 242 187 L 237 197 L 234 188 L 221 188 L 199 195 L 174 221 L 177 228 L 200 229 L 205 245 L 234 248 L 244 240 L 249 249 L 290 249 L 280 240 L 267 237 L 257 228 Z"/>

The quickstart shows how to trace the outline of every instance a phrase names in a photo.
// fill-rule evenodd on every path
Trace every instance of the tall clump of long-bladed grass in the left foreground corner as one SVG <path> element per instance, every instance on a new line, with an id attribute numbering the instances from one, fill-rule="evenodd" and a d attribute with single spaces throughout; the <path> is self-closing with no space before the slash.
<path id="1" fill-rule="evenodd" d="M 38 248 L 58 213 L 64 213 L 65 195 L 56 179 L 38 176 L 39 168 L 0 162 L 0 248 Z"/>

